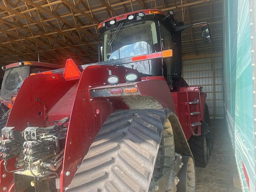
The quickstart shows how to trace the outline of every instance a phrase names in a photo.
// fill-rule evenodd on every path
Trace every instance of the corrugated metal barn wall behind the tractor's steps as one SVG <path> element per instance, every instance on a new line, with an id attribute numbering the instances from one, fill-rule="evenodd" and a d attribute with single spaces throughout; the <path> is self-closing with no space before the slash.
<path id="1" fill-rule="evenodd" d="M 211 117 L 224 117 L 222 57 L 184 60 L 183 78 L 189 85 L 203 87 Z"/>

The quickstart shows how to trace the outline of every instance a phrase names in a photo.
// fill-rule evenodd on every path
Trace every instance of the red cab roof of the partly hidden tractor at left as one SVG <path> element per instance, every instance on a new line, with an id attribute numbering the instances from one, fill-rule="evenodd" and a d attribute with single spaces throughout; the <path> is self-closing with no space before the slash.
<path id="1" fill-rule="evenodd" d="M 2 70 L 16 68 L 16 67 L 20 67 L 20 66 L 40 66 L 40 67 L 46 67 L 46 68 L 52 68 L 52 69 L 62 68 L 62 66 L 51 64 L 51 63 L 36 62 L 36 61 L 22 61 L 22 62 L 16 62 L 16 63 L 12 63 L 12 64 L 9 64 L 6 66 L 2 66 Z"/>

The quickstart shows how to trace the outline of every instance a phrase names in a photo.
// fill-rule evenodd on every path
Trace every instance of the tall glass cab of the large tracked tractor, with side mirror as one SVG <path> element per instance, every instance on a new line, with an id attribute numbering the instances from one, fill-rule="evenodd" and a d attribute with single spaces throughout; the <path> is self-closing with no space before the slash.
<path id="1" fill-rule="evenodd" d="M 205 22 L 200 24 L 204 24 L 204 40 L 210 42 L 208 25 Z M 100 58 L 108 61 L 172 50 L 173 57 L 120 65 L 138 70 L 141 77 L 164 76 L 172 86 L 173 81 L 180 80 L 182 72 L 181 31 L 193 25 L 184 26 L 183 22 L 177 22 L 172 11 L 166 16 L 157 9 L 111 18 L 98 26 L 102 34 Z"/>

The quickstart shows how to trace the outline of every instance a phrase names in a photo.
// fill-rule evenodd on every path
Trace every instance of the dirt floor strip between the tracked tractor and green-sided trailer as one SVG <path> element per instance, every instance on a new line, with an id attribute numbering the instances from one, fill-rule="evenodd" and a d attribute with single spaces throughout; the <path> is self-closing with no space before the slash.
<path id="1" fill-rule="evenodd" d="M 214 145 L 208 166 L 196 167 L 196 192 L 242 192 L 224 119 L 211 119 Z"/>

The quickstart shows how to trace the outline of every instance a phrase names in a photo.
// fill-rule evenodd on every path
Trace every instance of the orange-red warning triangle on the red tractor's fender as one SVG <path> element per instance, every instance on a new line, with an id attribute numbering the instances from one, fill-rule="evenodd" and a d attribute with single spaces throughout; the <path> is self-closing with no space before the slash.
<path id="1" fill-rule="evenodd" d="M 79 79 L 80 75 L 81 71 L 78 69 L 75 62 L 72 59 L 67 59 L 64 70 L 64 79 L 66 81 Z"/>

